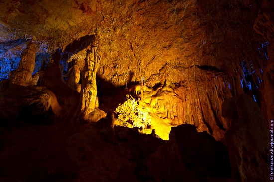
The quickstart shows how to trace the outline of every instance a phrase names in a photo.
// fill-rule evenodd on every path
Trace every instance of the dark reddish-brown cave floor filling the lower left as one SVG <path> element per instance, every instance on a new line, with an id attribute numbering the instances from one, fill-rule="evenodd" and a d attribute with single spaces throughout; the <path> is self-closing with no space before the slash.
<path id="1" fill-rule="evenodd" d="M 132 181 L 136 162 L 127 152 L 105 142 L 94 124 L 1 128 L 0 181 Z"/>

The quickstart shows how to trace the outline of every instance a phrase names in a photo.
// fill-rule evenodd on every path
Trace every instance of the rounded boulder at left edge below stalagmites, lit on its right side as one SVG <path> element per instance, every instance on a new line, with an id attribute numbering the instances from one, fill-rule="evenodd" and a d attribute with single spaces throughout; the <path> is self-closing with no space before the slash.
<path id="1" fill-rule="evenodd" d="M 52 124 L 61 108 L 51 91 L 43 87 L 8 87 L 0 92 L 0 125 L 14 121 Z M 15 123 L 16 124 L 16 123 Z"/>

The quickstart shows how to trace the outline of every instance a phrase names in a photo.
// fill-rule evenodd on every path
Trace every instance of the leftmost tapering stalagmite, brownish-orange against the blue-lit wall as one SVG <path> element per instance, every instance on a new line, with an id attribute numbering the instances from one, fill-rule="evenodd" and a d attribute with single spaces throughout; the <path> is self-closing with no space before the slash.
<path id="1" fill-rule="evenodd" d="M 35 67 L 36 44 L 30 41 L 23 51 L 19 67 L 10 73 L 10 82 L 21 86 L 31 85 Z"/>

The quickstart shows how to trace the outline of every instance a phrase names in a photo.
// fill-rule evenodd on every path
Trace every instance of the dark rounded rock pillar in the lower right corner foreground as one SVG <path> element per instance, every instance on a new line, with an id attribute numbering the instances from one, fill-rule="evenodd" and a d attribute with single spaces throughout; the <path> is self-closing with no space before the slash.
<path id="1" fill-rule="evenodd" d="M 242 94 L 223 103 L 222 115 L 231 125 L 225 132 L 224 142 L 229 151 L 233 181 L 268 181 L 270 132 L 259 106 L 250 96 Z"/>

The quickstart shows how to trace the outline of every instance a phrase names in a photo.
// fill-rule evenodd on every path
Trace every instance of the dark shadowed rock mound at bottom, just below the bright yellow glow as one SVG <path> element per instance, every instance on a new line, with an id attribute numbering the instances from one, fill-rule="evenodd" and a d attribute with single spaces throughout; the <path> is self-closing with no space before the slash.
<path id="1" fill-rule="evenodd" d="M 147 157 L 146 164 L 156 182 L 201 182 L 210 178 L 225 182 L 231 177 L 226 147 L 190 124 L 172 127 L 169 141 Z"/>

